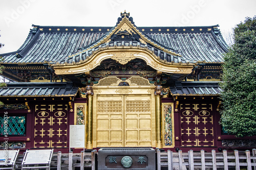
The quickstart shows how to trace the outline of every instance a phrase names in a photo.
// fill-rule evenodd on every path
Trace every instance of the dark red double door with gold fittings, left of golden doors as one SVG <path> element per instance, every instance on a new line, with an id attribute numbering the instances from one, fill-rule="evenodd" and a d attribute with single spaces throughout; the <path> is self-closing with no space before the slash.
<path id="1" fill-rule="evenodd" d="M 34 148 L 67 147 L 68 105 L 36 105 Z"/>

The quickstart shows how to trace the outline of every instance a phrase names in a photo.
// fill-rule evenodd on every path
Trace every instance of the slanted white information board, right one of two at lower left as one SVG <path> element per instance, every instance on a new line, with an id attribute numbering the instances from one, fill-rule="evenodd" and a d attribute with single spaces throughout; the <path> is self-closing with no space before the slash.
<path id="1" fill-rule="evenodd" d="M 48 164 L 53 150 L 29 150 L 26 152 L 24 164 Z"/>

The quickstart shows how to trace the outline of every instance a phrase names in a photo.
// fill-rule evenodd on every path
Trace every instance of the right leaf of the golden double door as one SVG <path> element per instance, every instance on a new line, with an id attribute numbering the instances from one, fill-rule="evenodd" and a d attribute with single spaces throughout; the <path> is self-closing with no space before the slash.
<path id="1" fill-rule="evenodd" d="M 151 96 L 124 96 L 124 147 L 151 147 Z"/>

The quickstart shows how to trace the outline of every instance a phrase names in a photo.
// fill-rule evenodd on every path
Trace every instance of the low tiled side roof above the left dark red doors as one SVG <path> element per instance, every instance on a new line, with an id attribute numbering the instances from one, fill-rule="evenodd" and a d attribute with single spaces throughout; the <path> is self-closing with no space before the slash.
<path id="1" fill-rule="evenodd" d="M 0 96 L 75 96 L 78 91 L 72 82 L 6 84 Z"/>

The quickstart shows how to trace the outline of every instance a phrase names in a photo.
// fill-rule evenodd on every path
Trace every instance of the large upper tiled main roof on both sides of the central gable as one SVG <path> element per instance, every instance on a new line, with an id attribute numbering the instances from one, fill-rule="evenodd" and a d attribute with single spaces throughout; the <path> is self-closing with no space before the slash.
<path id="1" fill-rule="evenodd" d="M 135 26 L 136 27 L 136 26 Z M 223 62 L 222 54 L 227 51 L 218 26 L 209 27 L 139 27 L 142 35 L 150 39 L 153 44 L 181 55 L 172 58 L 172 55 L 164 53 L 154 47 L 154 52 L 160 59 L 185 63 L 205 61 Z M 34 26 L 31 29 L 25 43 L 16 52 L 2 54 L 4 63 L 44 63 L 48 62 L 79 62 L 82 57 L 87 57 L 93 51 L 93 46 L 105 38 L 115 27 L 48 27 Z M 114 43 L 112 41 L 112 43 Z M 120 45 L 122 42 L 117 43 Z M 137 41 L 132 42 L 137 46 Z M 124 42 L 130 45 L 131 42 Z M 107 45 L 102 44 L 102 46 Z M 112 45 L 111 42 L 109 44 Z M 145 43 L 140 42 L 141 47 Z M 90 47 L 92 46 L 92 47 Z M 88 48 L 90 47 L 90 48 Z M 152 48 L 148 44 L 149 49 Z M 72 57 L 86 49 L 82 56 Z M 96 47 L 95 47 L 96 48 Z M 95 50 L 95 49 L 94 49 Z M 151 49 L 150 49 L 151 50 Z M 16 55 L 18 53 L 19 55 Z M 70 59 L 70 56 L 72 56 Z"/>

